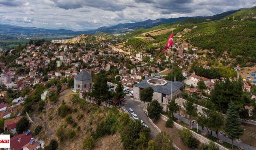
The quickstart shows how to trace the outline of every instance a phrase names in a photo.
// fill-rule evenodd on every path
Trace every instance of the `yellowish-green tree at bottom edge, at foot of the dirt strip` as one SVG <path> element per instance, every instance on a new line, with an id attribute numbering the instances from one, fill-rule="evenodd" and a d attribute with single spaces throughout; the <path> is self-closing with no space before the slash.
<path id="1" fill-rule="evenodd" d="M 155 150 L 174 150 L 172 138 L 166 132 L 158 133 L 154 140 Z"/>

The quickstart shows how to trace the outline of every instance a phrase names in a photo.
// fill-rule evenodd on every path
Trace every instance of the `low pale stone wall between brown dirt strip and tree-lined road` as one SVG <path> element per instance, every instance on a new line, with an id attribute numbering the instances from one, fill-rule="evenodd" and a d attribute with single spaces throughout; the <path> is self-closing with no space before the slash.
<path id="1" fill-rule="evenodd" d="M 160 115 L 160 118 L 165 120 L 165 121 L 168 120 L 168 118 L 166 116 L 162 115 L 162 114 Z M 186 128 L 186 127 L 181 126 L 180 124 L 178 124 L 176 122 L 173 122 L 173 124 L 179 130 L 181 130 L 183 128 Z M 208 138 L 206 138 L 206 137 L 204 137 L 204 136 L 202 136 L 200 134 L 197 134 L 196 132 L 194 132 L 192 130 L 190 130 L 190 131 L 192 132 L 193 138 L 196 138 L 199 142 L 204 143 L 204 144 L 208 144 L 210 142 L 210 140 Z M 228 148 L 225 148 L 224 146 L 222 146 L 222 145 L 220 145 L 220 144 L 218 144 L 216 142 L 214 142 L 214 143 L 215 143 L 216 146 L 219 147 L 219 150 L 228 150 Z"/>

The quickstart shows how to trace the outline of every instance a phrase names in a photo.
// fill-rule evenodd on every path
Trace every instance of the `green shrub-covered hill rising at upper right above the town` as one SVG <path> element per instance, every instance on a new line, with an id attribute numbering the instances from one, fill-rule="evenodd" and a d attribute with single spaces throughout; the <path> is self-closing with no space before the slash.
<path id="1" fill-rule="evenodd" d="M 173 30 L 167 30 L 171 28 Z M 122 38 L 128 38 L 126 46 L 130 45 L 136 51 L 137 45 L 144 47 L 142 50 L 152 47 L 154 50 L 160 50 L 166 44 L 172 31 L 174 42 L 186 41 L 198 49 L 214 50 L 213 56 L 216 58 L 236 59 L 238 64 L 244 65 L 256 62 L 255 6 L 241 9 L 217 21 L 190 18 L 150 29 L 138 29 Z M 150 36 L 152 40 L 138 39 L 141 36 Z M 135 43 L 131 44 L 131 42 Z"/>

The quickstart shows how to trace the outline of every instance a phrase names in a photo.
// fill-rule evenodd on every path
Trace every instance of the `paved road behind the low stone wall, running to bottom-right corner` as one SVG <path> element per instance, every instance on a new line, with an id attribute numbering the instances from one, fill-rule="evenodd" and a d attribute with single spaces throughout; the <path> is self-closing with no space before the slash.
<path id="1" fill-rule="evenodd" d="M 177 114 L 174 114 L 174 117 L 175 118 L 178 118 L 178 113 Z M 179 117 L 179 119 L 182 121 L 182 122 L 185 122 L 186 124 L 189 124 L 189 121 L 187 118 L 184 118 L 182 116 Z M 192 126 L 192 123 L 191 123 L 191 126 Z M 193 128 L 197 128 L 197 124 L 194 123 L 193 125 Z M 207 129 L 204 128 L 204 130 L 202 130 L 202 127 L 201 126 L 198 126 L 198 130 L 201 130 L 202 132 L 205 132 L 207 133 Z M 211 130 L 209 130 L 209 132 L 211 132 Z M 216 137 L 217 138 L 217 135 L 215 134 L 215 131 L 212 131 L 212 136 Z M 230 143 L 232 144 L 232 140 L 230 138 L 226 138 L 225 136 L 219 134 L 218 135 L 220 140 L 222 141 L 226 141 L 227 143 Z M 247 145 L 247 144 L 244 144 L 244 143 L 239 143 L 239 142 L 236 142 L 236 140 L 234 140 L 234 145 L 237 146 L 237 147 L 242 147 L 244 148 L 245 150 L 256 150 L 256 147 L 253 147 L 253 146 L 250 146 L 250 145 Z"/>

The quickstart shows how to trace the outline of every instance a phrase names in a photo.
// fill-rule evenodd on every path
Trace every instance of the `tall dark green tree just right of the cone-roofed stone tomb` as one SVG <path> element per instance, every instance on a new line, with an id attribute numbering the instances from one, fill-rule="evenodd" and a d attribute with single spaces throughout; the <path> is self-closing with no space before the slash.
<path id="1" fill-rule="evenodd" d="M 94 79 L 94 85 L 89 96 L 94 97 L 98 101 L 98 106 L 110 97 L 107 81 L 108 79 L 104 71 L 101 71 Z"/>

